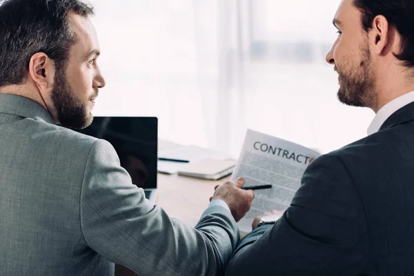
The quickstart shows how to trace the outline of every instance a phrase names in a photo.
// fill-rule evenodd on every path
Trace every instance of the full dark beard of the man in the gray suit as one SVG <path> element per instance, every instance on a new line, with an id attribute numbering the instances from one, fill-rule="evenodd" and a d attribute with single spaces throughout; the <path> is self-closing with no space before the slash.
<path id="1" fill-rule="evenodd" d="M 59 124 L 66 128 L 86 128 L 93 121 L 93 115 L 88 112 L 88 103 L 98 96 L 98 90 L 90 95 L 84 102 L 75 96 L 75 93 L 66 79 L 66 70 L 59 66 L 56 71 L 54 86 L 52 89 L 52 102 L 57 111 Z"/>

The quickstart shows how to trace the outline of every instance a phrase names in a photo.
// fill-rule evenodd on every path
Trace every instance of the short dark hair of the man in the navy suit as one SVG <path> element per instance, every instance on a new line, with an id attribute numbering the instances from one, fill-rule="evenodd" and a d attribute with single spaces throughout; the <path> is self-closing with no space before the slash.
<path id="1" fill-rule="evenodd" d="M 362 12 L 362 27 L 366 32 L 373 26 L 377 15 L 383 15 L 402 38 L 401 52 L 395 55 L 404 66 L 414 67 L 414 1 L 413 0 L 353 0 Z"/>

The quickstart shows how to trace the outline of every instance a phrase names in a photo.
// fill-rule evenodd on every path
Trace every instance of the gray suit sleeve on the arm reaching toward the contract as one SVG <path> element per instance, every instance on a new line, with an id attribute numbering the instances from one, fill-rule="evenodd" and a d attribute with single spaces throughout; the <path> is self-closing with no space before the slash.
<path id="1" fill-rule="evenodd" d="M 81 227 L 88 246 L 141 276 L 221 275 L 239 233 L 230 212 L 208 208 L 195 228 L 152 206 L 119 166 L 112 146 L 96 141 L 81 190 Z"/>

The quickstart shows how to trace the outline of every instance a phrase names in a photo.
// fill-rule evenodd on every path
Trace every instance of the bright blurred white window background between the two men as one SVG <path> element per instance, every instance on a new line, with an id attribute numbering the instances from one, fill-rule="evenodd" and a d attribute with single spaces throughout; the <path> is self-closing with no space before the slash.
<path id="1" fill-rule="evenodd" d="M 326 153 L 374 113 L 337 101 L 340 0 L 92 0 L 107 86 L 94 115 L 157 116 L 159 138 L 229 152 L 246 128 Z"/>

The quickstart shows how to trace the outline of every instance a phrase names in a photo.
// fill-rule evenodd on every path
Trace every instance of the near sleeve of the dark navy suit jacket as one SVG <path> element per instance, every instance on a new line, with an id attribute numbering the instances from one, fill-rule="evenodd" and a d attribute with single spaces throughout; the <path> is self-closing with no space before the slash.
<path id="1" fill-rule="evenodd" d="M 359 275 L 367 266 L 362 201 L 334 155 L 313 161 L 284 215 L 262 227 L 242 239 L 226 275 Z"/>

